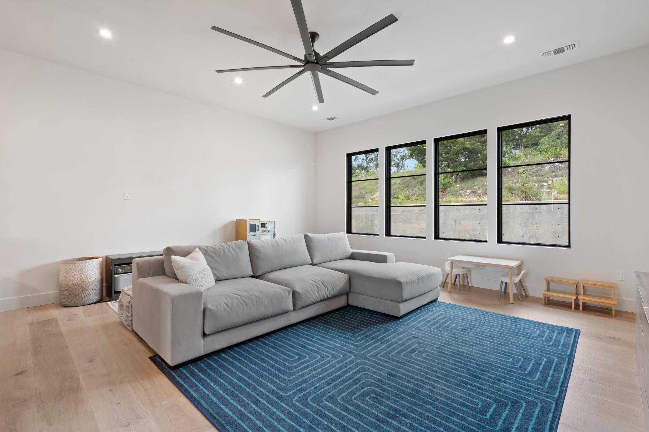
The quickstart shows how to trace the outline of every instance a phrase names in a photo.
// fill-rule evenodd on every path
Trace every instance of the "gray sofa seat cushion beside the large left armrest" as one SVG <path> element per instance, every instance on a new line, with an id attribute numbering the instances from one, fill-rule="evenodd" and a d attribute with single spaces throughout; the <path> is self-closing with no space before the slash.
<path id="1" fill-rule="evenodd" d="M 227 328 L 293 310 L 292 291 L 265 280 L 244 277 L 219 280 L 203 291 L 204 332 Z"/>

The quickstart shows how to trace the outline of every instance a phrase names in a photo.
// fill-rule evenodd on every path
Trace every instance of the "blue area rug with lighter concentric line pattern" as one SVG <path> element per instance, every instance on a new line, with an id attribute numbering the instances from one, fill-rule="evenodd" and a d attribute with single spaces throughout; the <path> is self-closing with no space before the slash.
<path id="1" fill-rule="evenodd" d="M 172 370 L 225 431 L 557 430 L 579 330 L 432 302 L 349 306 Z"/>

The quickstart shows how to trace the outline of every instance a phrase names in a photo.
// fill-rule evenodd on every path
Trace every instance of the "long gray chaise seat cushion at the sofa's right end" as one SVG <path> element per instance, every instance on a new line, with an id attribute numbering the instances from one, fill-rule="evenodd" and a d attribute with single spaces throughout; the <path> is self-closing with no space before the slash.
<path id="1" fill-rule="evenodd" d="M 350 291 L 393 301 L 406 301 L 434 290 L 442 281 L 437 267 L 410 262 L 378 263 L 338 260 L 318 267 L 349 275 Z"/>

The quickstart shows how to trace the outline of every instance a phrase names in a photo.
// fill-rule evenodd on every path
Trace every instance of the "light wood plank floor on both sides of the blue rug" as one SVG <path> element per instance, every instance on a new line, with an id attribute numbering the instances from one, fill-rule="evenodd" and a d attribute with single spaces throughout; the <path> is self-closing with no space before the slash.
<path id="1" fill-rule="evenodd" d="M 509 304 L 493 290 L 441 301 L 580 328 L 559 432 L 643 430 L 635 315 L 565 302 Z M 153 350 L 106 304 L 0 313 L 0 431 L 215 431 L 147 358 Z"/>

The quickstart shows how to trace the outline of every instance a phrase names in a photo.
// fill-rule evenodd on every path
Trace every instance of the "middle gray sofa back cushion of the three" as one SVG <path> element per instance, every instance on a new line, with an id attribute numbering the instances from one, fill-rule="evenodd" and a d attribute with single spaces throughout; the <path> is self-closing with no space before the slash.
<path id="1" fill-rule="evenodd" d="M 311 264 L 302 234 L 273 240 L 249 240 L 248 250 L 254 276 Z"/>

